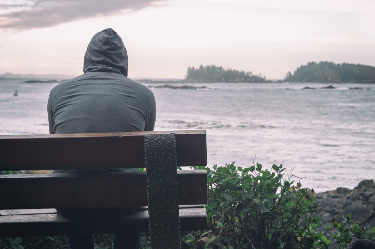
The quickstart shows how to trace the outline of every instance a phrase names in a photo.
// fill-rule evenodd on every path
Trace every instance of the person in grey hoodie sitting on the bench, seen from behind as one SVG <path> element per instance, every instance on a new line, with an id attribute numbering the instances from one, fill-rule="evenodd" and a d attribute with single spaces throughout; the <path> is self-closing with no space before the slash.
<path id="1" fill-rule="evenodd" d="M 96 33 L 84 56 L 83 75 L 55 86 L 48 98 L 50 134 L 153 131 L 154 94 L 128 76 L 128 56 L 121 37 L 111 28 Z M 52 170 L 52 173 L 135 171 L 132 168 Z M 129 209 L 59 209 L 68 218 L 107 218 Z M 139 233 L 114 234 L 114 249 L 139 248 Z M 94 237 L 68 235 L 69 248 L 94 248 Z"/>

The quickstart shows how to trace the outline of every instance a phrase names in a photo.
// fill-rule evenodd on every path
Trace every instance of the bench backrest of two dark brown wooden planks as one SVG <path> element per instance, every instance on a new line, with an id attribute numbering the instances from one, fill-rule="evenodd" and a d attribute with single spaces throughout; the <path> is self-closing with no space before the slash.
<path id="1" fill-rule="evenodd" d="M 0 136 L 0 171 L 145 167 L 144 136 Z M 207 164 L 205 131 L 173 131 L 177 166 Z M 145 172 L 0 175 L 0 209 L 147 206 Z M 179 204 L 207 203 L 207 174 L 178 172 Z"/>

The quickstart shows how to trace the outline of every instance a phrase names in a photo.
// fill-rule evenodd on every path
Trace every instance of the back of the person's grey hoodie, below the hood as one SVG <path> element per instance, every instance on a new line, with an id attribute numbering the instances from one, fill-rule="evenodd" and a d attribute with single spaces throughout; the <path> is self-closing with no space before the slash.
<path id="1" fill-rule="evenodd" d="M 49 133 L 152 131 L 150 89 L 114 72 L 89 72 L 52 89 Z"/>

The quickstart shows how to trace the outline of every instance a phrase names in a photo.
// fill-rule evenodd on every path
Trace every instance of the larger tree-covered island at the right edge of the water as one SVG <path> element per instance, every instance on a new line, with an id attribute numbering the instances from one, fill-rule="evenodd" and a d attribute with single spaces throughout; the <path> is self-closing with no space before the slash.
<path id="1" fill-rule="evenodd" d="M 335 64 L 328 61 L 310 62 L 285 76 L 287 82 L 375 83 L 375 67 L 360 64 Z"/>

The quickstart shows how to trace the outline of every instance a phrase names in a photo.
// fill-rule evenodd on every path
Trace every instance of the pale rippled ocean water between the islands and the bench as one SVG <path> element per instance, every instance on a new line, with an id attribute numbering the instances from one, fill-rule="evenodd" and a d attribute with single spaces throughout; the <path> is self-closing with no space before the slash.
<path id="1" fill-rule="evenodd" d="M 49 132 L 57 83 L 26 80 L 0 79 L 0 135 Z M 208 166 L 283 164 L 286 177 L 317 192 L 375 179 L 375 84 L 168 84 L 192 88 L 145 83 L 156 98 L 155 130 L 206 130 Z"/>

